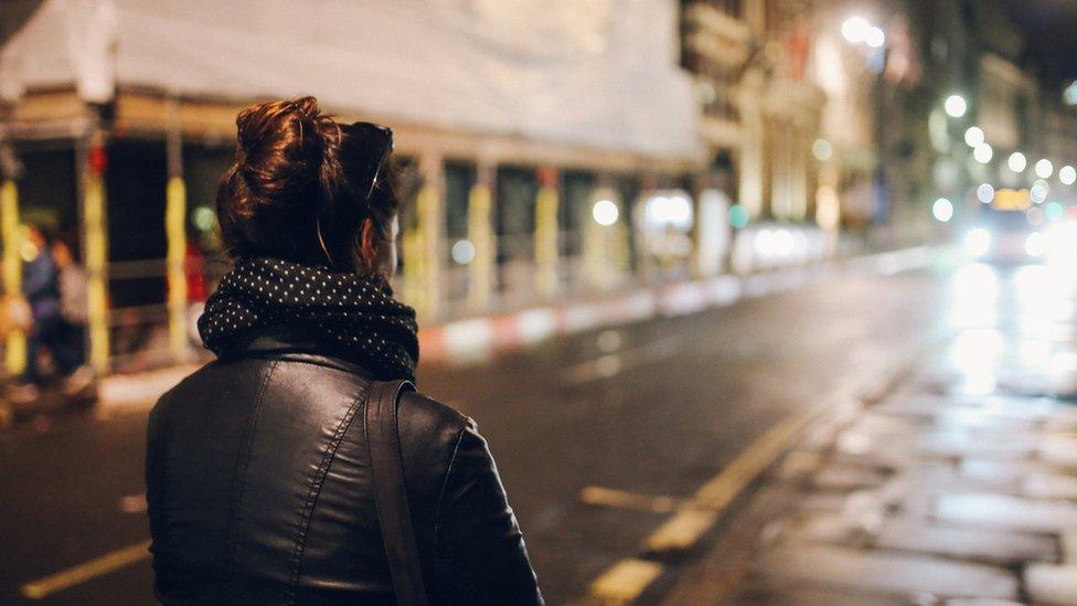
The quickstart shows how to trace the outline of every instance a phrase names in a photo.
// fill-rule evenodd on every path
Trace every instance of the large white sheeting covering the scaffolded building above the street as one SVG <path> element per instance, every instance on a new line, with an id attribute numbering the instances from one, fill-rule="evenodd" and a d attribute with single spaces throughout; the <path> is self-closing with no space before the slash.
<path id="1" fill-rule="evenodd" d="M 695 156 L 674 0 L 46 0 L 0 50 L 0 95 L 76 86 L 323 106 Z"/>

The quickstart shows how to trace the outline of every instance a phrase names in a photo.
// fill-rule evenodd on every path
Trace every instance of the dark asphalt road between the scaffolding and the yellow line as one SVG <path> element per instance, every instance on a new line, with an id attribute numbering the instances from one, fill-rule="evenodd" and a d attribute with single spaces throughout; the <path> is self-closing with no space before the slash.
<path id="1" fill-rule="evenodd" d="M 950 278 L 842 278 L 727 308 L 551 340 L 419 387 L 473 416 L 551 604 L 580 597 L 665 514 L 580 502 L 586 487 L 686 497 L 865 363 L 945 327 Z M 145 413 L 0 434 L 0 603 L 147 538 Z M 36 604 L 150 603 L 146 560 Z"/>

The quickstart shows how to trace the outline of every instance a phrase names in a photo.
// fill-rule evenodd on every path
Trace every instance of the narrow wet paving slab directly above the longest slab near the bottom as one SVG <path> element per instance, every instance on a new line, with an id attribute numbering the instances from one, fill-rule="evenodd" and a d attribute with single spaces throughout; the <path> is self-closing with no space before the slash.
<path id="1" fill-rule="evenodd" d="M 1023 562 L 1055 562 L 1055 541 L 1042 534 L 951 528 L 921 520 L 891 520 L 883 524 L 875 546 L 1012 565 Z"/>

